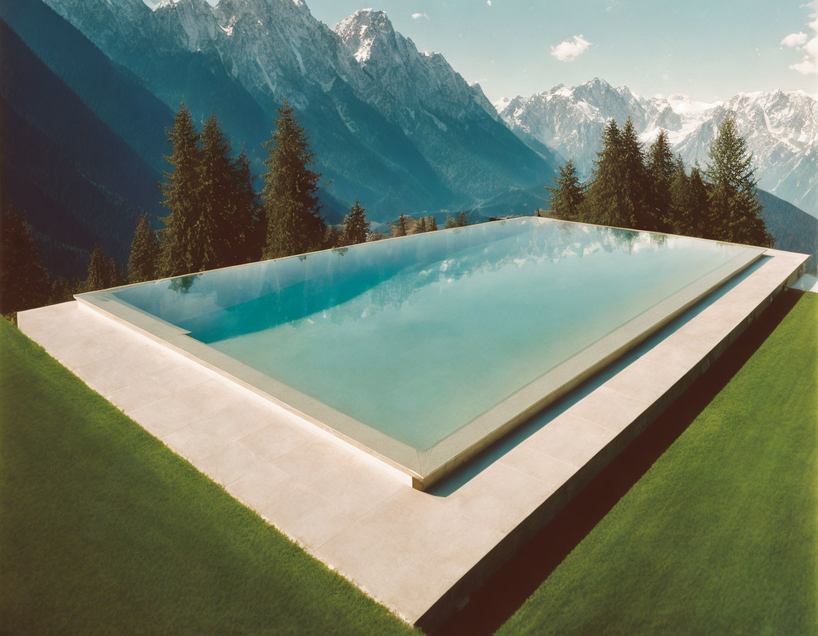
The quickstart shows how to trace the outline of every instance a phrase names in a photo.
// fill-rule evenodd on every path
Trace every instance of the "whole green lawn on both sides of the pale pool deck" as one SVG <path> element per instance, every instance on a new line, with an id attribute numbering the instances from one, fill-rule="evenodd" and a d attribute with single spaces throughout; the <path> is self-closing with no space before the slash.
<path id="1" fill-rule="evenodd" d="M 818 633 L 818 295 L 501 634 Z M 396 634 L 0 320 L 0 633 Z"/>

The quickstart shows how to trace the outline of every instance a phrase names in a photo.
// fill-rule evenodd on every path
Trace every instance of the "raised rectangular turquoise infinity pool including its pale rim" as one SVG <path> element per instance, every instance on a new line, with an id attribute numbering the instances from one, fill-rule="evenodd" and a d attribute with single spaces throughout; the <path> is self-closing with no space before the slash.
<path id="1" fill-rule="evenodd" d="M 762 251 L 529 217 L 78 298 L 422 486 Z"/>

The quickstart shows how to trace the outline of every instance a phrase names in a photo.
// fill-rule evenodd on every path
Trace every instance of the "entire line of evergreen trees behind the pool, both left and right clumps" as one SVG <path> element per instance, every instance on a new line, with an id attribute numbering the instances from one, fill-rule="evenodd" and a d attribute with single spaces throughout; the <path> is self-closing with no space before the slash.
<path id="1" fill-rule="evenodd" d="M 52 280 L 42 265 L 34 233 L 13 205 L 2 205 L 0 313 L 70 300 L 74 293 L 107 289 L 174 275 L 281 258 L 317 249 L 380 240 L 358 199 L 343 230 L 326 224 L 317 195 L 321 174 L 304 128 L 285 101 L 267 141 L 263 189 L 257 192 L 242 149 L 233 155 L 215 115 L 196 129 L 182 103 L 168 132 L 169 170 L 159 183 L 163 205 L 155 231 L 142 214 L 127 268 L 98 246 L 84 280 Z M 573 162 L 560 167 L 551 192 L 551 216 L 606 226 L 672 232 L 705 239 L 772 246 L 756 196 L 752 155 L 733 119 L 725 119 L 703 170 L 690 173 L 672 154 L 667 133 L 644 150 L 633 123 L 605 128 L 591 180 L 582 183 Z M 542 212 L 541 212 L 542 213 Z M 470 224 L 470 211 L 448 216 L 445 227 Z M 393 236 L 438 229 L 434 216 L 401 214 L 389 224 Z"/>

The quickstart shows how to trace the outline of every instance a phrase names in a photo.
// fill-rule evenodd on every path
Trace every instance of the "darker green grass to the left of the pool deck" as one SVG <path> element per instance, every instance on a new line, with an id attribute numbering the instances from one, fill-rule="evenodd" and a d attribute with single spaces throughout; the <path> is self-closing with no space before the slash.
<path id="1" fill-rule="evenodd" d="M 0 632 L 408 634 L 0 320 Z"/>

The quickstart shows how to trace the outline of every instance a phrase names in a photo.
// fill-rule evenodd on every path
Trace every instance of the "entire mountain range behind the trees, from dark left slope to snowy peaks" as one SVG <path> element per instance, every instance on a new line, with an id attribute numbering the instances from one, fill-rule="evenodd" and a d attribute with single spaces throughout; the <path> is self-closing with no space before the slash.
<path id="1" fill-rule="evenodd" d="M 802 204 L 815 194 L 814 100 L 799 93 L 708 105 L 595 79 L 496 110 L 383 12 L 330 29 L 301 0 L 162 0 L 153 11 L 142 0 L 0 0 L 0 28 L 2 195 L 62 275 L 80 274 L 95 243 L 124 262 L 141 209 L 158 224 L 156 182 L 181 101 L 199 123 L 217 114 L 258 174 L 289 100 L 317 154 L 329 222 L 356 198 L 376 226 L 400 213 L 533 213 L 566 157 L 590 174 L 609 117 L 630 116 L 645 141 L 666 128 L 691 163 L 734 105 L 767 187 Z M 818 220 L 765 197 L 778 247 L 816 253 Z"/>

